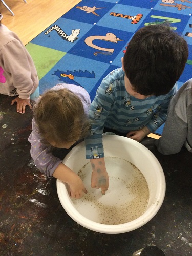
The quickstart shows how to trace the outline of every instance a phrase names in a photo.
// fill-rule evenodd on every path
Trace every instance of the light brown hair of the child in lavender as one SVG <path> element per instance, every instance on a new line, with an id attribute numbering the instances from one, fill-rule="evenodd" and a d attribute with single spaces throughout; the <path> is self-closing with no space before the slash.
<path id="1" fill-rule="evenodd" d="M 67 88 L 44 93 L 33 113 L 42 137 L 57 145 L 77 141 L 88 133 L 89 122 L 83 104 Z"/>

